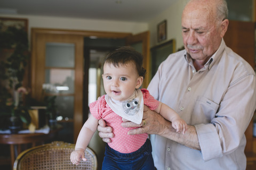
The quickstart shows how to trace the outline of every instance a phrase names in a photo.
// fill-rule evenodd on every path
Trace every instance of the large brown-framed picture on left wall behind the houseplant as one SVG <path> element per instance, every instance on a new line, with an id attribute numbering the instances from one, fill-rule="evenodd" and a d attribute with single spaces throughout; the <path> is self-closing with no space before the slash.
<path id="1" fill-rule="evenodd" d="M 5 89 L 4 95 L 12 95 L 15 90 L 10 87 L 10 82 L 13 86 L 19 87 L 22 84 L 28 87 L 28 58 L 28 19 L 0 17 L 0 67 L 6 76 L 5 80 L 0 78 L 3 81 L 0 88 Z"/>

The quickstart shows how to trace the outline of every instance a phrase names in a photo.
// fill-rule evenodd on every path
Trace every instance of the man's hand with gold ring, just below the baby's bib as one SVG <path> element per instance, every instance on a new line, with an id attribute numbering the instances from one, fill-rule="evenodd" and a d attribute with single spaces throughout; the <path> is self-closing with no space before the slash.
<path id="1" fill-rule="evenodd" d="M 146 121 L 146 124 L 142 126 L 141 124 L 135 124 L 133 122 L 125 122 L 123 120 L 122 126 L 124 128 L 128 127 L 140 127 L 137 129 L 130 130 L 128 134 L 141 134 L 141 133 L 148 133 L 148 134 L 162 134 L 165 128 L 166 120 L 157 114 L 154 111 L 151 111 L 146 105 L 144 105 L 144 113 L 143 113 L 143 120 Z"/>

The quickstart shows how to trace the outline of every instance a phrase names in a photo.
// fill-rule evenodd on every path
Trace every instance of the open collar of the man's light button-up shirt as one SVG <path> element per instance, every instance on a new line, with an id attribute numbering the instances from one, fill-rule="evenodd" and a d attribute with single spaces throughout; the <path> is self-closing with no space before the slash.
<path id="1" fill-rule="evenodd" d="M 204 65 L 205 69 L 206 68 L 208 68 L 209 70 L 211 69 L 211 67 L 214 65 L 214 63 L 216 61 L 218 61 L 220 59 L 220 57 L 222 56 L 222 53 L 223 53 L 223 50 L 225 49 L 225 47 L 226 47 L 226 44 L 225 44 L 225 41 L 222 38 L 220 46 L 217 49 L 217 51 L 212 55 L 212 57 L 209 59 L 209 61 L 207 61 L 205 63 L 205 65 Z M 183 55 L 184 55 L 185 60 L 187 61 L 188 64 L 193 63 L 192 60 L 191 60 L 190 55 L 186 52 L 186 50 L 185 50 Z"/>

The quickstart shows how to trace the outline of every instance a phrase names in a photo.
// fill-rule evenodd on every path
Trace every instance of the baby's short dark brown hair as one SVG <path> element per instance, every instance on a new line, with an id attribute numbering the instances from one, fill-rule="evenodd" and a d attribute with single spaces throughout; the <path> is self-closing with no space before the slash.
<path id="1" fill-rule="evenodd" d="M 142 67 L 143 56 L 132 47 L 125 46 L 113 50 L 107 55 L 104 64 L 113 64 L 118 67 L 129 62 L 133 62 L 136 65 L 139 76 L 145 79 L 146 70 Z"/>

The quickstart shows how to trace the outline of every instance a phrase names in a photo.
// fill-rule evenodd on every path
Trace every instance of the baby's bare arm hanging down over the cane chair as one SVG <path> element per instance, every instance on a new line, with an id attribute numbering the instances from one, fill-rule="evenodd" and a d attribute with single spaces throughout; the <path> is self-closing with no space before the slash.
<path id="1" fill-rule="evenodd" d="M 70 160 L 73 164 L 78 165 L 82 160 L 86 160 L 84 157 L 84 151 L 86 147 L 89 145 L 90 140 L 94 132 L 97 130 L 98 120 L 92 115 L 88 118 L 88 120 L 84 123 L 81 131 L 79 132 L 76 147 L 73 152 L 71 152 Z"/>

